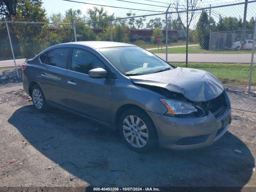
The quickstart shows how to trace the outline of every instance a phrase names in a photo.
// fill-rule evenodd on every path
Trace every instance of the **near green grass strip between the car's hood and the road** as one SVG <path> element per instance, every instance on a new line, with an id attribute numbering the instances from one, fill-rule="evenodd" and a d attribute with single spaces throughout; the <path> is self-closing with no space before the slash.
<path id="1" fill-rule="evenodd" d="M 173 63 L 172 63 L 173 64 Z M 185 67 L 185 63 L 175 63 L 175 66 Z M 205 70 L 214 74 L 224 84 L 248 85 L 250 64 L 223 63 L 188 63 L 189 68 Z M 252 85 L 256 85 L 256 64 L 253 66 Z"/>

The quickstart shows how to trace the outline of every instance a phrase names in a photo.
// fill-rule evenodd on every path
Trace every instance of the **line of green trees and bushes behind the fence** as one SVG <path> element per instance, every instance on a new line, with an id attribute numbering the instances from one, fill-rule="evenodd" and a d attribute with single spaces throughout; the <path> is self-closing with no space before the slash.
<path id="1" fill-rule="evenodd" d="M 56 13 L 47 17 L 46 10 L 42 7 L 42 0 L 0 0 L 0 15 L 2 20 L 6 18 L 9 21 L 52 23 L 8 23 L 15 55 L 24 56 L 25 58 L 31 58 L 41 50 L 44 50 L 44 48 L 54 44 L 74 41 L 72 24 L 54 24 L 70 23 L 72 18 L 76 22 L 76 36 L 78 41 L 111 40 L 109 22 L 111 16 L 102 7 L 89 8 L 85 15 L 79 9 L 68 9 L 65 14 Z M 128 12 L 126 15 L 128 17 L 136 16 L 133 12 Z M 184 40 L 187 42 L 189 40 L 199 42 L 203 49 L 208 49 L 210 30 L 237 31 L 242 30 L 243 26 L 242 18 L 222 18 L 219 15 L 219 20 L 216 22 L 214 18 L 209 18 L 207 12 L 204 10 L 200 14 L 195 30 L 190 29 L 189 25 L 184 24 L 180 15 L 176 18 L 172 18 L 169 15 L 167 19 L 168 30 L 186 31 Z M 254 28 L 254 18 L 246 22 L 247 29 Z M 162 30 L 166 29 L 165 23 L 165 20 L 160 17 L 148 20 L 145 16 L 114 20 L 112 22 L 112 38 L 116 42 L 130 42 L 129 29 L 152 29 L 154 31 L 150 40 L 152 43 L 157 43 L 156 37 L 159 35 L 162 36 Z M 91 28 L 103 28 L 104 30 L 99 34 L 95 34 Z M 2 47 L 0 58 L 11 58 L 5 23 L 1 23 L 0 25 L 0 34 L 0 46 Z M 164 40 L 165 37 L 162 38 L 162 41 Z M 169 42 L 175 42 L 177 40 L 177 37 L 171 37 Z M 142 44 L 143 42 L 140 41 L 139 43 Z"/>

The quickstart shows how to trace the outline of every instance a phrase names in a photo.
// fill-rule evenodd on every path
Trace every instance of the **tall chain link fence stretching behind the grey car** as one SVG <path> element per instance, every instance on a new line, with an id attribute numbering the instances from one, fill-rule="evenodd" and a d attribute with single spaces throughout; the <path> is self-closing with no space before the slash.
<path id="1" fill-rule="evenodd" d="M 246 22 L 244 7 L 244 3 L 236 3 L 183 8 L 146 16 L 112 16 L 110 20 L 83 24 L 75 24 L 74 20 L 65 24 L 1 21 L 0 67 L 14 66 L 7 24 L 17 65 L 54 44 L 125 42 L 145 48 L 175 66 L 206 70 L 224 84 L 241 85 L 255 92 L 256 2 L 248 2 Z"/>

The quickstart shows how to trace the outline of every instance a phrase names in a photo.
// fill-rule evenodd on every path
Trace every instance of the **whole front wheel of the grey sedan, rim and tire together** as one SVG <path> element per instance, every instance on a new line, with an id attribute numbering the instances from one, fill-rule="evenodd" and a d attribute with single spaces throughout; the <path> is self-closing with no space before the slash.
<path id="1" fill-rule="evenodd" d="M 143 110 L 132 108 L 124 112 L 119 131 L 123 141 L 137 152 L 153 150 L 158 144 L 155 126 Z"/>

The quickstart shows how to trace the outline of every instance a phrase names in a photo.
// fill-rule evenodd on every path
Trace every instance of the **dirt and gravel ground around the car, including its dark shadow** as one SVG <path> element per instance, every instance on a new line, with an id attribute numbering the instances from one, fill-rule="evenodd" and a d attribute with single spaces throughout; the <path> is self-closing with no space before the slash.
<path id="1" fill-rule="evenodd" d="M 256 97 L 228 90 L 232 124 L 212 146 L 139 154 L 118 134 L 0 85 L 0 186 L 256 186 Z"/>

